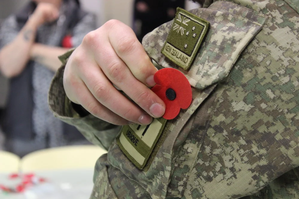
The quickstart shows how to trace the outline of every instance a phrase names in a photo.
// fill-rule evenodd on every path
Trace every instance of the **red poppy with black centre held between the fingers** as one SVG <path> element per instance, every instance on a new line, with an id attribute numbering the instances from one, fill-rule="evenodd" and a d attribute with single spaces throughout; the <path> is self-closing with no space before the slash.
<path id="1" fill-rule="evenodd" d="M 163 68 L 154 75 L 157 83 L 153 88 L 165 103 L 166 110 L 163 118 L 171 120 L 180 112 L 180 109 L 186 109 L 192 101 L 191 85 L 183 73 L 174 68 Z"/>

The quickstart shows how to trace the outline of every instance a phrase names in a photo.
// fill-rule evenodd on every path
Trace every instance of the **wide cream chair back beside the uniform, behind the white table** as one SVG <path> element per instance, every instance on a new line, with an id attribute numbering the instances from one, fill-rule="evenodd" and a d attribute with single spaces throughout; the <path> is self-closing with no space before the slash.
<path id="1" fill-rule="evenodd" d="M 42 149 L 25 155 L 20 164 L 22 172 L 63 169 L 93 169 L 96 160 L 106 150 L 99 146 L 81 145 Z"/>

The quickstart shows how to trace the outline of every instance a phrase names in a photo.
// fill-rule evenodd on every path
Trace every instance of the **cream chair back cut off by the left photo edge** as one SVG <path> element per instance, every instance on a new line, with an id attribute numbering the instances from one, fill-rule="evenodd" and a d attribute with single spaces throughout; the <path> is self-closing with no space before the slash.
<path id="1" fill-rule="evenodd" d="M 7 152 L 0 151 L 0 172 L 14 173 L 19 172 L 20 157 Z"/>

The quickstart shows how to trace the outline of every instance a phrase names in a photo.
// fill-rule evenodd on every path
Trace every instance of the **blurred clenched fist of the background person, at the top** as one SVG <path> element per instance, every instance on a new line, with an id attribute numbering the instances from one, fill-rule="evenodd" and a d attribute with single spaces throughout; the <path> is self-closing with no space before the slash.
<path id="1" fill-rule="evenodd" d="M 46 22 L 53 22 L 58 16 L 59 11 L 53 4 L 39 3 L 31 18 L 35 20 L 37 26 L 40 26 Z"/>

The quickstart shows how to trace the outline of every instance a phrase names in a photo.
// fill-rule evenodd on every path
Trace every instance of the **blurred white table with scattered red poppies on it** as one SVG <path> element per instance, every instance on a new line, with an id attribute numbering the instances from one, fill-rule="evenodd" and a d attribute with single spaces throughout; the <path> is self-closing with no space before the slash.
<path id="1" fill-rule="evenodd" d="M 0 193 L 1 199 L 88 199 L 92 192 L 93 169 L 58 170 L 34 172 L 43 177 L 46 183 L 26 189 L 23 193 Z M 0 173 L 0 184 L 16 185 L 18 182 L 9 180 L 9 174 Z"/>

